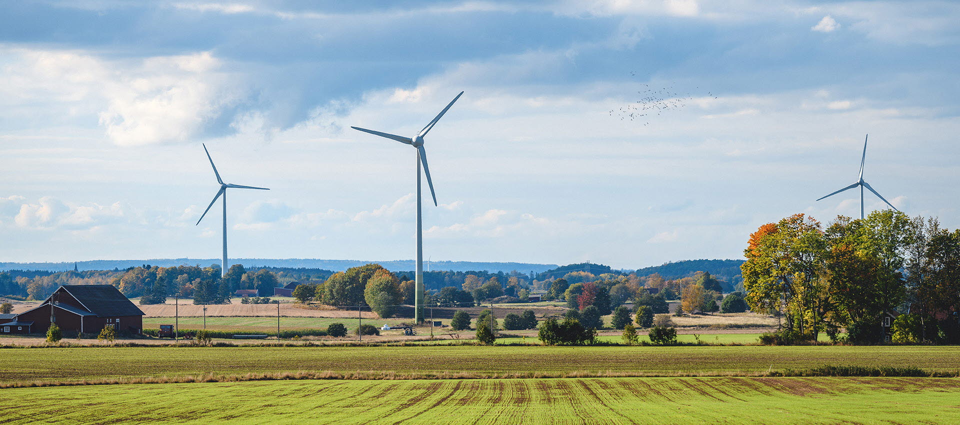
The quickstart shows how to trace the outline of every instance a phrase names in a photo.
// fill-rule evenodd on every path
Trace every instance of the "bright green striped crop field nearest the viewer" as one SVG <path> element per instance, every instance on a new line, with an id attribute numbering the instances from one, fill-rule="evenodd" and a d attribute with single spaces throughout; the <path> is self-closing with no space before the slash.
<path id="1" fill-rule="evenodd" d="M 960 423 L 954 378 L 273 381 L 3 394 L 0 419 L 10 424 Z"/>

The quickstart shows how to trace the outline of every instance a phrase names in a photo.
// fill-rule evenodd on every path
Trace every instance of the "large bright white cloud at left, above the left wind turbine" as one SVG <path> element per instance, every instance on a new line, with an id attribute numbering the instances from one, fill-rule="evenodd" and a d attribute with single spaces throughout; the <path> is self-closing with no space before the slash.
<path id="1" fill-rule="evenodd" d="M 141 60 L 77 51 L 4 49 L 0 102 L 41 102 L 49 121 L 97 119 L 118 145 L 182 142 L 198 135 L 243 89 L 209 52 Z M 31 116 L 31 119 L 36 117 Z"/>

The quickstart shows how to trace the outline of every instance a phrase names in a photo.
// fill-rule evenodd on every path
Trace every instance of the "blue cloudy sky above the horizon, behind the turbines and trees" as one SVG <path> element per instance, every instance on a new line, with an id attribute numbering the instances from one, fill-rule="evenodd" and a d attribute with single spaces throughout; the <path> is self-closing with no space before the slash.
<path id="1" fill-rule="evenodd" d="M 0 6 L 0 260 L 415 254 L 639 268 L 858 216 L 960 226 L 960 4 L 20 1 Z M 621 109 L 671 106 L 640 112 Z M 654 113 L 659 113 L 655 115 Z M 868 211 L 885 207 L 867 194 Z"/>

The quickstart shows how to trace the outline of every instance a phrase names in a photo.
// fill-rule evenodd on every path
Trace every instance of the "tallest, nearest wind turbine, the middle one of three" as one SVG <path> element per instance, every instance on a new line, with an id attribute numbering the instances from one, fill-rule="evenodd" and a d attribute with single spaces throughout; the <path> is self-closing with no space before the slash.
<path id="1" fill-rule="evenodd" d="M 433 121 L 430 121 L 423 130 L 417 133 L 413 138 L 398 136 L 396 134 L 390 134 L 386 132 L 374 131 L 361 129 L 359 127 L 350 127 L 353 130 L 360 130 L 364 132 L 369 132 L 373 135 L 378 135 L 380 137 L 386 137 L 388 139 L 396 140 L 400 143 L 405 143 L 407 145 L 413 146 L 417 149 L 417 280 L 416 280 L 416 289 L 414 291 L 414 304 L 415 304 L 415 314 L 414 319 L 419 323 L 423 321 L 423 214 L 420 208 L 420 164 L 423 164 L 423 174 L 426 175 L 426 182 L 430 185 L 430 196 L 433 197 L 433 204 L 437 206 L 437 194 L 433 191 L 433 180 L 430 179 L 430 168 L 426 165 L 426 151 L 423 150 L 423 137 L 426 136 L 426 133 L 430 132 L 433 129 L 433 126 L 437 124 L 437 121 L 440 121 L 440 118 L 444 116 L 447 109 L 450 106 L 453 106 L 454 102 L 457 102 L 457 99 L 460 99 L 464 92 L 460 92 L 457 97 L 453 98 L 444 110 L 440 111 L 436 118 Z"/>

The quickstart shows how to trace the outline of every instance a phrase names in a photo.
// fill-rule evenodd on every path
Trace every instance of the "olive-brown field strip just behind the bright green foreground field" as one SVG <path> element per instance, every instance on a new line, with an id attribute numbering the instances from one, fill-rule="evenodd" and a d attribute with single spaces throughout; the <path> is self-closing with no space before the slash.
<path id="1" fill-rule="evenodd" d="M 960 368 L 960 346 L 326 346 L 0 349 L 0 382 L 300 370 L 640 374 L 823 365 Z"/>

